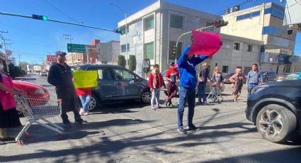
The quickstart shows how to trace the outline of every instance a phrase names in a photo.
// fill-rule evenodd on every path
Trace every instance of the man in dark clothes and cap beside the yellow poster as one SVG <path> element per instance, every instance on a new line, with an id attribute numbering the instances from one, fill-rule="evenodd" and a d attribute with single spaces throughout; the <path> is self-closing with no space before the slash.
<path id="1" fill-rule="evenodd" d="M 66 52 L 55 52 L 57 62 L 52 63 L 47 81 L 49 84 L 55 86 L 55 92 L 57 93 L 57 99 L 62 99 L 62 114 L 61 118 L 65 128 L 71 128 L 72 125 L 68 119 L 67 112 L 73 111 L 74 123 L 82 124 L 86 123 L 86 120 L 79 115 L 79 101 L 75 94 L 75 88 L 72 80 L 72 71 L 69 65 L 65 63 Z"/>

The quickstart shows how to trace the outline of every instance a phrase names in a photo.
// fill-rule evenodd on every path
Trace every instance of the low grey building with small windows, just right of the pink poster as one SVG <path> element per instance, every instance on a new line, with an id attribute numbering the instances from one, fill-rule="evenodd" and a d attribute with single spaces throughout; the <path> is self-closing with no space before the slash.
<path id="1" fill-rule="evenodd" d="M 222 47 L 215 55 L 205 61 L 210 65 L 210 73 L 217 66 L 220 67 L 220 71 L 224 75 L 234 73 L 236 68 L 241 68 L 242 72 L 247 74 L 251 70 L 252 64 L 259 64 L 263 41 L 225 34 L 220 34 L 220 36 Z M 239 43 L 239 45 L 235 43 Z M 200 69 L 201 66 L 198 68 Z"/>

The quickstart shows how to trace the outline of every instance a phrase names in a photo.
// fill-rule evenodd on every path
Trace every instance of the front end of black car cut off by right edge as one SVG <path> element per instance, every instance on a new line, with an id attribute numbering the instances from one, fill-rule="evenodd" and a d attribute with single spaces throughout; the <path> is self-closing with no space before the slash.
<path id="1" fill-rule="evenodd" d="M 246 118 L 264 139 L 285 142 L 301 129 L 301 80 L 271 82 L 251 91 Z"/>

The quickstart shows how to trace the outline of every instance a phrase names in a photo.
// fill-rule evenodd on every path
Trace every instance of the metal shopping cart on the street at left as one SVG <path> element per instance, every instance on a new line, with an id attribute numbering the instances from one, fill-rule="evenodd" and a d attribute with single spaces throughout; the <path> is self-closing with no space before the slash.
<path id="1" fill-rule="evenodd" d="M 24 94 L 12 94 L 13 99 L 17 103 L 17 111 L 20 111 L 25 116 L 27 123 L 21 132 L 16 137 L 16 142 L 18 145 L 23 145 L 21 136 L 25 133 L 26 137 L 30 137 L 30 134 L 27 132 L 30 125 L 33 123 L 38 123 L 45 128 L 54 130 L 59 138 L 62 139 L 63 128 L 59 127 L 55 123 L 46 120 L 46 118 L 52 118 L 59 116 L 61 114 L 61 101 L 57 99 L 42 99 L 37 97 L 30 97 Z M 44 121 L 45 123 L 42 123 Z"/>

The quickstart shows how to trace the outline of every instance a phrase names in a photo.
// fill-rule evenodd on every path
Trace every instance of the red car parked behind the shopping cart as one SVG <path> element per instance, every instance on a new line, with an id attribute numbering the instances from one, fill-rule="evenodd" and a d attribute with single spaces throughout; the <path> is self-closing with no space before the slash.
<path id="1" fill-rule="evenodd" d="M 39 99 L 35 100 L 36 102 L 34 104 L 30 102 L 31 106 L 45 105 L 45 103 L 47 103 L 47 101 L 50 99 L 49 91 L 47 91 L 45 87 L 38 84 L 21 80 L 13 80 L 13 86 L 20 91 L 25 91 L 28 98 Z"/>

